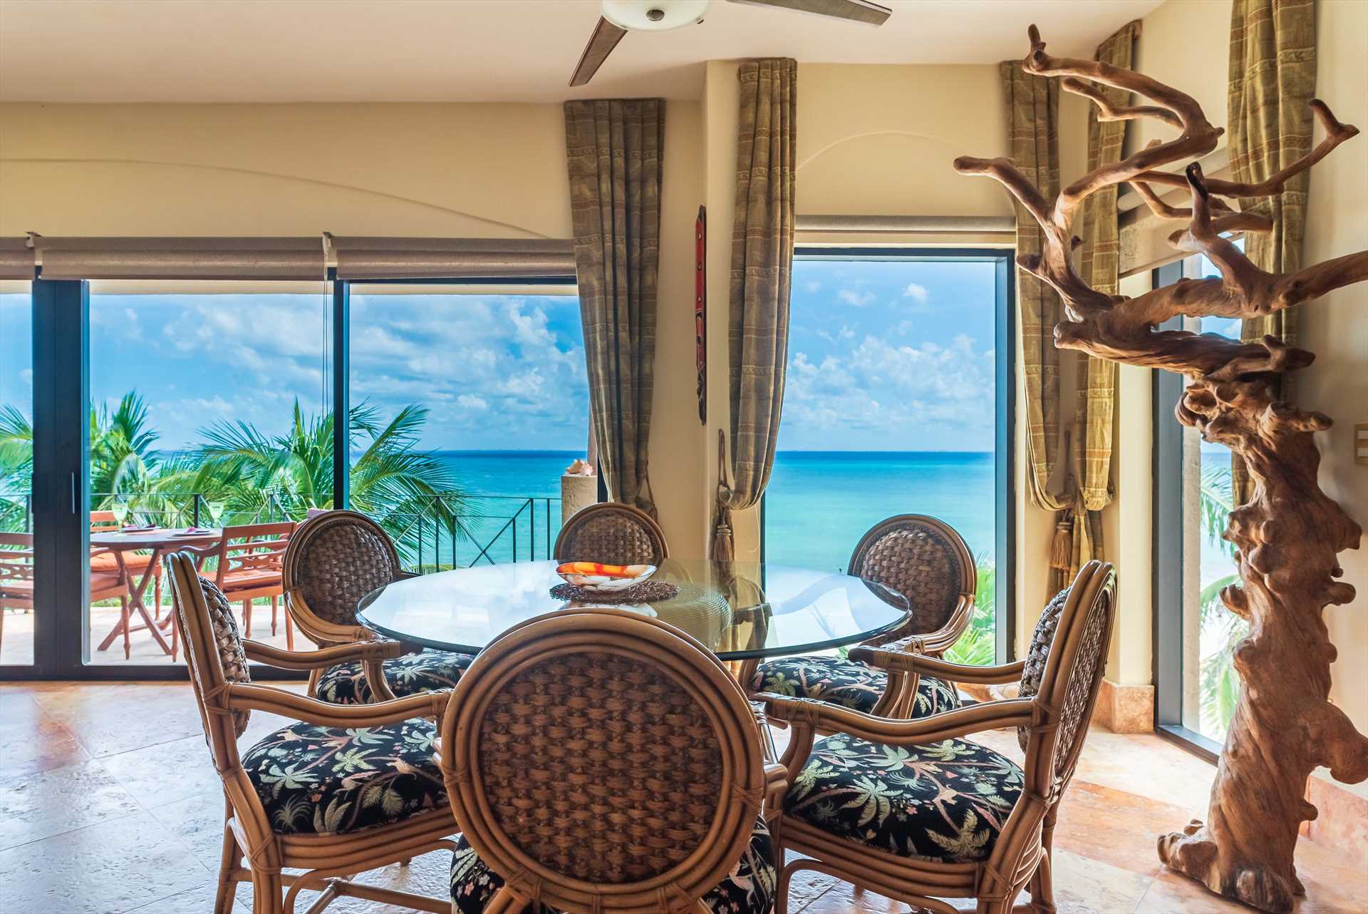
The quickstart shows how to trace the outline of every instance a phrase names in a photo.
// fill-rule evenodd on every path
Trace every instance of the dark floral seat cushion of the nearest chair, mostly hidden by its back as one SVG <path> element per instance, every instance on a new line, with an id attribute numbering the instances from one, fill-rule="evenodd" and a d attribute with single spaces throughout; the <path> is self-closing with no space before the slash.
<path id="1" fill-rule="evenodd" d="M 774 843 L 765 820 L 755 822 L 751 843 L 732 872 L 717 888 L 703 896 L 703 904 L 713 914 L 769 914 L 774 910 Z M 494 895 L 503 888 L 498 873 L 486 866 L 465 841 L 457 839 L 451 854 L 451 911 L 453 914 L 483 914 Z M 524 914 L 555 914 L 547 907 Z"/>

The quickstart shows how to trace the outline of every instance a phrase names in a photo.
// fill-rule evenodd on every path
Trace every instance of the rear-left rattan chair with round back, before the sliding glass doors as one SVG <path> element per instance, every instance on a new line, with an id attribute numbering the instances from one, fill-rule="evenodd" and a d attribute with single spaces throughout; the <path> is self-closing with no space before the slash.
<path id="1" fill-rule="evenodd" d="M 399 564 L 390 535 L 365 514 L 330 510 L 305 520 L 290 535 L 282 562 L 286 612 L 319 647 L 379 638 L 356 620 L 357 603 L 372 590 L 413 577 Z M 451 688 L 475 660 L 471 654 L 410 647 L 384 662 L 372 681 L 357 662 L 309 675 L 309 695 L 334 705 L 363 705 Z"/>

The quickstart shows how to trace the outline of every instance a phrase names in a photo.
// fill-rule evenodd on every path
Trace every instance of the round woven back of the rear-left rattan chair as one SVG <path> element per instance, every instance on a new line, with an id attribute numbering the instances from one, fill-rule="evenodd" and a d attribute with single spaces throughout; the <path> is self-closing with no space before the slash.
<path id="1" fill-rule="evenodd" d="M 291 599 L 290 612 L 334 625 L 356 625 L 357 601 L 401 575 L 394 540 L 354 510 L 330 510 L 300 524 L 282 562 L 283 590 L 304 602 Z"/>

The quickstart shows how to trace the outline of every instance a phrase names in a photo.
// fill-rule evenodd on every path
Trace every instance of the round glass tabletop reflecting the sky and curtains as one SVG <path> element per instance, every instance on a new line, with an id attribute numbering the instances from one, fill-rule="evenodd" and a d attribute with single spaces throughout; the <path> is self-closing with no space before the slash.
<path id="1" fill-rule="evenodd" d="M 554 561 L 483 565 L 397 580 L 367 594 L 367 627 L 424 647 L 479 653 L 501 634 L 558 609 L 607 606 L 565 602 Z M 907 599 L 882 584 L 830 572 L 755 562 L 669 558 L 653 580 L 679 595 L 651 603 L 613 603 L 654 616 L 710 647 L 721 660 L 777 657 L 854 644 L 907 618 Z"/>

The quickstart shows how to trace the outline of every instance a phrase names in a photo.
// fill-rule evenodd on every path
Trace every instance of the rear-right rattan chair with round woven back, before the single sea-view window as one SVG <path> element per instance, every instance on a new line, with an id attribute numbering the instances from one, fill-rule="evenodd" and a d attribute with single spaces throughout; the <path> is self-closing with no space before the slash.
<path id="1" fill-rule="evenodd" d="M 865 647 L 908 650 L 940 657 L 959 640 L 974 613 L 978 571 L 955 528 L 926 514 L 882 520 L 851 553 L 850 575 L 881 583 L 907 598 L 910 613 L 899 629 Z M 877 717 L 926 717 L 959 707 L 953 686 L 932 676 L 918 683 L 837 655 L 784 657 L 761 664 L 743 681 L 755 691 L 802 695 Z"/>

